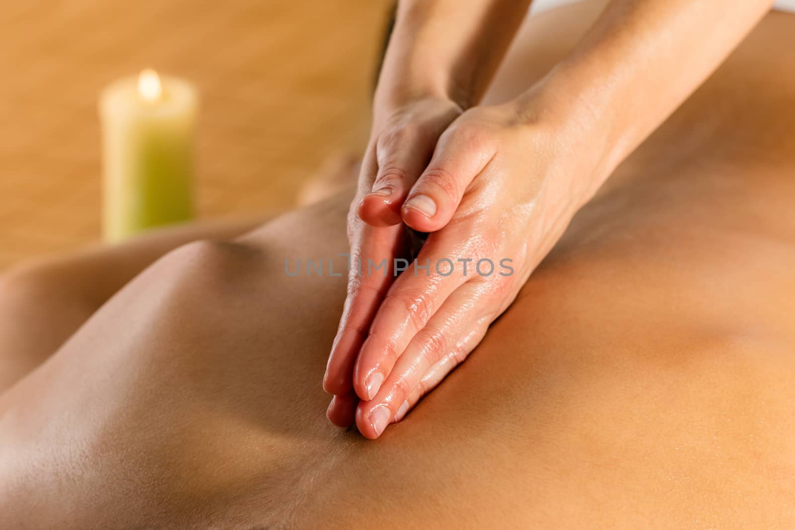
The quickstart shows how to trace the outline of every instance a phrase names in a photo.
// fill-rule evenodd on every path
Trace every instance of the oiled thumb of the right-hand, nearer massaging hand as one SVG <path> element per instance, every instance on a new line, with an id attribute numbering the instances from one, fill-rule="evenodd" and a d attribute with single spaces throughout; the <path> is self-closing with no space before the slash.
<path id="1" fill-rule="evenodd" d="M 403 222 L 421 232 L 440 230 L 456 213 L 467 186 L 493 157 L 494 149 L 483 133 L 471 127 L 448 130 L 403 203 Z"/>

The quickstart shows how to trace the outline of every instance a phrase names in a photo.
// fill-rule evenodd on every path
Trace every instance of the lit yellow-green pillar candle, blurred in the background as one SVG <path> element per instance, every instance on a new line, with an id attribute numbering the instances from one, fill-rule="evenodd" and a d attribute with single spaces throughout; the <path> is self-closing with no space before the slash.
<path id="1" fill-rule="evenodd" d="M 103 234 L 118 242 L 192 217 L 196 90 L 153 70 L 121 79 L 99 100 Z"/>

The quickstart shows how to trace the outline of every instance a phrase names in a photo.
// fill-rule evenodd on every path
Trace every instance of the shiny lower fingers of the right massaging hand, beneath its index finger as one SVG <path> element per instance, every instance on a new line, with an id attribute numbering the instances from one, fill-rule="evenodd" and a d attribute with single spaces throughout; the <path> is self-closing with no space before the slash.
<path id="1" fill-rule="evenodd" d="M 479 283 L 469 281 L 454 292 L 397 359 L 374 399 L 359 403 L 356 425 L 367 438 L 378 438 L 390 421 L 402 419 L 483 339 L 491 320 L 475 316 Z"/>

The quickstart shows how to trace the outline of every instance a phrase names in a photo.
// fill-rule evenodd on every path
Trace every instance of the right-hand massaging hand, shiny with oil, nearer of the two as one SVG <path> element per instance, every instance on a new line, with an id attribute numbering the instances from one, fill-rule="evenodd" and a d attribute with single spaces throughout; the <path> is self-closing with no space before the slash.
<path id="1" fill-rule="evenodd" d="M 576 126 L 538 118 L 535 104 L 467 110 L 409 191 L 402 220 L 430 234 L 359 350 L 355 418 L 366 437 L 400 421 L 467 358 L 592 194 L 598 149 L 580 143 Z M 427 273 L 415 269 L 426 261 Z"/>

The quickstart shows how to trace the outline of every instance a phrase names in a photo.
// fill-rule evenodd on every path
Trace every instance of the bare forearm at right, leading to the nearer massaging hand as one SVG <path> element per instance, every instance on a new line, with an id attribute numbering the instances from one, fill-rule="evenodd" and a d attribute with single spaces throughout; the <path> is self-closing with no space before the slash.
<path id="1" fill-rule="evenodd" d="M 613 0 L 520 100 L 598 151 L 589 195 L 719 66 L 771 0 Z"/>

